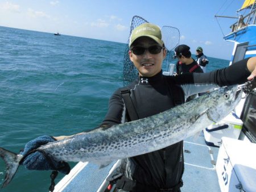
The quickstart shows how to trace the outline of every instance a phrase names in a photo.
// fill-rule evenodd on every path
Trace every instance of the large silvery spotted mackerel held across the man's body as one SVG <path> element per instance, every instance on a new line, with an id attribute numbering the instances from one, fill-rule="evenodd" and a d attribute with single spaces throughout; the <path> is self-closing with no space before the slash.
<path id="1" fill-rule="evenodd" d="M 228 115 L 241 99 L 237 86 L 222 87 L 191 102 L 160 114 L 118 124 L 106 130 L 85 132 L 42 145 L 43 151 L 57 161 L 89 161 L 99 165 L 121 158 L 156 151 L 181 141 Z M 24 157 L 0 148 L 7 165 L 6 186 Z"/>

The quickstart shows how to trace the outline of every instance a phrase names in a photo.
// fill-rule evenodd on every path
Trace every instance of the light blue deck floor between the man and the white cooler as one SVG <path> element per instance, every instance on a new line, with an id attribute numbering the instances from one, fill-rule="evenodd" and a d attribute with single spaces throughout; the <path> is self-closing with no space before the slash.
<path id="1" fill-rule="evenodd" d="M 221 191 L 215 169 L 218 149 L 205 144 L 203 131 L 184 141 L 185 170 L 181 191 Z"/>

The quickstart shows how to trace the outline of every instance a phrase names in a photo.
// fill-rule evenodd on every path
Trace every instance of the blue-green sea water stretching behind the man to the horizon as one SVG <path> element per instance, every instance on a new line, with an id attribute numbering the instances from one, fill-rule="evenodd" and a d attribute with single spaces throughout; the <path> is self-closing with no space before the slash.
<path id="1" fill-rule="evenodd" d="M 35 137 L 72 135 L 98 126 L 109 97 L 123 85 L 125 47 L 0 27 L 0 147 L 19 153 Z M 229 64 L 228 60 L 209 60 L 208 70 Z M 50 174 L 20 166 L 2 191 L 48 191 Z M 0 183 L 4 176 L 0 160 Z M 63 176 L 60 173 L 56 182 Z"/>

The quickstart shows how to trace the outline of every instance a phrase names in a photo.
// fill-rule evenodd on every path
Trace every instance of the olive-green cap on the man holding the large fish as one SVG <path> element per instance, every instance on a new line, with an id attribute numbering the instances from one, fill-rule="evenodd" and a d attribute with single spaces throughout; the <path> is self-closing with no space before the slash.
<path id="1" fill-rule="evenodd" d="M 164 44 L 162 41 L 162 33 L 160 27 L 151 23 L 143 23 L 140 26 L 134 28 L 133 32 L 131 32 L 129 47 L 131 47 L 131 44 L 133 44 L 136 39 L 142 36 L 150 37 L 161 46 Z"/>

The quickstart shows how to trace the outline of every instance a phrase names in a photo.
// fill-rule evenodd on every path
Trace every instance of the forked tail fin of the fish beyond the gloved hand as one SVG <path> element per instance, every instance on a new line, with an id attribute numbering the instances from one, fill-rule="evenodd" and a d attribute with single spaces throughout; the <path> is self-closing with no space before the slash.
<path id="1" fill-rule="evenodd" d="M 3 188 L 6 187 L 13 179 L 19 168 L 19 162 L 22 160 L 23 156 L 17 155 L 16 153 L 7 151 L 6 149 L 0 147 L 0 157 L 3 158 L 3 161 L 5 161 L 6 164 L 5 180 L 1 186 L 1 188 Z"/>

